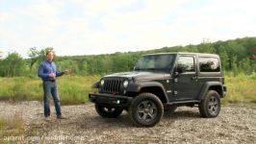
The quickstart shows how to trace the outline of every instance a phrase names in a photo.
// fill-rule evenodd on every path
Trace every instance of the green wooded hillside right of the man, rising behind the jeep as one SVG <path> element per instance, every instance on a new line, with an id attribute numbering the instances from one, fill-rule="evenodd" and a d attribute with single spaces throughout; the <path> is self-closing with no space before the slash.
<path id="1" fill-rule="evenodd" d="M 168 52 L 214 53 L 220 56 L 225 71 L 234 73 L 256 71 L 256 37 L 163 47 L 148 51 L 60 57 L 58 62 L 62 68 L 71 66 L 71 69 L 79 75 L 105 74 L 131 70 L 141 55 Z"/>

